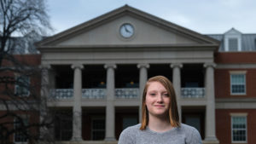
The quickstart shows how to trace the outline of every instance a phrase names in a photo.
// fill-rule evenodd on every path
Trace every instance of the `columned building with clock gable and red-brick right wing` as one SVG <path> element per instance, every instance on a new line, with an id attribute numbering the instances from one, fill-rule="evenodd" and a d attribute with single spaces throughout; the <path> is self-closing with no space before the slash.
<path id="1" fill-rule="evenodd" d="M 116 143 L 140 123 L 147 79 L 169 78 L 204 143 L 256 138 L 256 34 L 202 35 L 125 5 L 37 43 L 57 141 Z"/>

